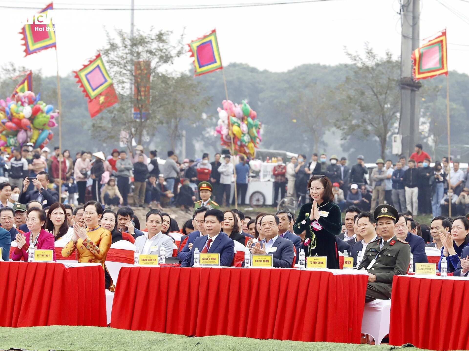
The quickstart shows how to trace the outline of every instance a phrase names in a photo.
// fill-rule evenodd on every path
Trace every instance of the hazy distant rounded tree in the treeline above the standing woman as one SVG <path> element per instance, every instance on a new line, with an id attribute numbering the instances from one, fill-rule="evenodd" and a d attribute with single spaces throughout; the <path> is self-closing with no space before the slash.
<path id="1" fill-rule="evenodd" d="M 302 90 L 297 90 L 290 99 L 291 114 L 299 125 L 304 126 L 314 138 L 314 152 L 319 152 L 325 130 L 332 125 L 333 91 L 328 87 L 319 87 L 309 83 Z"/>

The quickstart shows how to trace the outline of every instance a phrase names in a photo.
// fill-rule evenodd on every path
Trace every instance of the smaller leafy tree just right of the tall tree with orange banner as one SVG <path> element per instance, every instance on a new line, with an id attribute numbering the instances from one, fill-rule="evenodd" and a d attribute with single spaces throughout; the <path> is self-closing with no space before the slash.
<path id="1" fill-rule="evenodd" d="M 168 98 L 160 109 L 159 122 L 166 127 L 171 144 L 170 150 L 174 150 L 176 140 L 181 137 L 182 122 L 192 127 L 201 124 L 202 112 L 211 99 L 203 96 L 204 89 L 201 82 L 187 73 L 160 78 L 162 79 L 153 80 L 151 86 L 155 91 L 167 92 Z"/>

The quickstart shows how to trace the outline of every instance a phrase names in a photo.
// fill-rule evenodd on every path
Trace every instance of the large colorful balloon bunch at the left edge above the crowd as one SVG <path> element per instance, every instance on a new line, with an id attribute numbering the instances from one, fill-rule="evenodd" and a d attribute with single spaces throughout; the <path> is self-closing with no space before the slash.
<path id="1" fill-rule="evenodd" d="M 0 100 L 0 150 L 11 152 L 11 147 L 26 143 L 41 149 L 53 138 L 49 129 L 57 126 L 54 107 L 40 101 L 32 91 L 18 93 L 14 100 Z"/>

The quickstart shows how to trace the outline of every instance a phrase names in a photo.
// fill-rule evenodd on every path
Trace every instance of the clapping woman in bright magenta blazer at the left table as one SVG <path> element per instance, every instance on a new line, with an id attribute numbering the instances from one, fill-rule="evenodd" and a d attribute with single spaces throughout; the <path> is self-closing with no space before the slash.
<path id="1" fill-rule="evenodd" d="M 43 209 L 39 207 L 33 207 L 28 211 L 28 218 L 26 224 L 30 229 L 30 232 L 24 234 L 16 234 L 16 248 L 11 253 L 11 259 L 13 261 L 28 262 L 28 249 L 30 247 L 30 239 L 32 235 L 32 242 L 35 243 L 35 248 L 39 250 L 52 250 L 53 259 L 55 259 L 54 251 L 54 236 L 48 231 L 44 230 L 46 215 Z"/>

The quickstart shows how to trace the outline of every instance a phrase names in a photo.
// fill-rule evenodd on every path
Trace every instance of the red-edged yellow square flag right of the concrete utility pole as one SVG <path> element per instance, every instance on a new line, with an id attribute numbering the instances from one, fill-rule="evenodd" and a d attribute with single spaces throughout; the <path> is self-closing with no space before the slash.
<path id="1" fill-rule="evenodd" d="M 433 78 L 438 75 L 448 75 L 446 56 L 446 29 L 428 43 L 412 52 L 412 73 L 414 80 Z"/>

